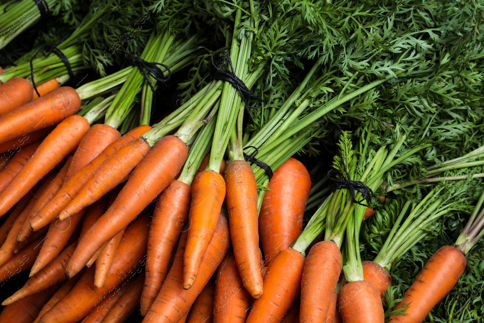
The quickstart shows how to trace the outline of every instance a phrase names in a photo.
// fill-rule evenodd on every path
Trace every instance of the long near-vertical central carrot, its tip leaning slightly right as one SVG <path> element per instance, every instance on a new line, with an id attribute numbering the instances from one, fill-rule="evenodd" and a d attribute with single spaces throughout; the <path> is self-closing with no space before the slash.
<path id="1" fill-rule="evenodd" d="M 254 298 L 262 295 L 258 235 L 257 183 L 252 167 L 233 160 L 225 169 L 226 203 L 230 240 L 245 289 Z"/>

